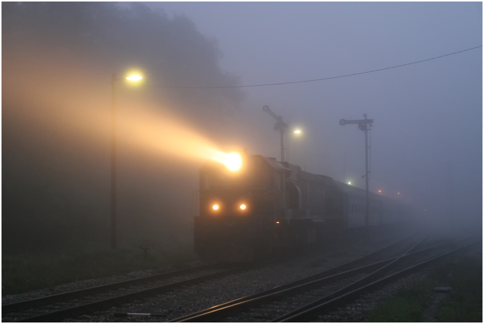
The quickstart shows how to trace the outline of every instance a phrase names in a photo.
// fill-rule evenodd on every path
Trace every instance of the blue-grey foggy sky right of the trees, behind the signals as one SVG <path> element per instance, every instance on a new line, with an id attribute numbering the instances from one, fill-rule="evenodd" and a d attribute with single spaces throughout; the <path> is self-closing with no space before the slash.
<path id="1" fill-rule="evenodd" d="M 222 68 L 241 85 L 335 77 L 482 45 L 481 2 L 145 3 L 186 15 L 217 39 Z M 303 129 L 288 139 L 290 162 L 363 188 L 363 132 L 338 121 L 367 113 L 375 120 L 370 190 L 401 192 L 437 217 L 451 199 L 458 218 L 481 219 L 482 48 L 243 91 L 243 114 L 256 128 L 245 133 L 249 152 L 280 155 L 273 120 L 261 110 L 269 105 Z"/>

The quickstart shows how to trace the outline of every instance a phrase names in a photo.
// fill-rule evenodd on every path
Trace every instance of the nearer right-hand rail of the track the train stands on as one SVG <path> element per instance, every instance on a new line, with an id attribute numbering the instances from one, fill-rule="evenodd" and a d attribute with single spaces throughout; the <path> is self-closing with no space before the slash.
<path id="1" fill-rule="evenodd" d="M 91 312 L 91 311 L 94 311 L 94 310 L 103 309 L 103 308 L 110 307 L 110 306 L 117 305 L 117 304 L 122 304 L 122 303 L 125 303 L 125 302 L 128 302 L 128 301 L 134 300 L 134 299 L 143 298 L 143 297 L 147 297 L 147 296 L 151 296 L 151 295 L 156 295 L 156 294 L 159 294 L 159 293 L 164 293 L 166 291 L 170 291 L 170 290 L 173 290 L 175 288 L 194 285 L 194 284 L 206 281 L 206 280 L 211 280 L 211 279 L 215 279 L 215 278 L 228 276 L 228 275 L 234 274 L 236 272 L 248 269 L 250 267 L 251 267 L 251 265 L 242 266 L 242 267 L 238 267 L 238 268 L 229 269 L 229 270 L 226 270 L 226 271 L 217 272 L 215 274 L 211 274 L 211 275 L 207 275 L 207 276 L 192 278 L 192 279 L 188 279 L 188 280 L 183 280 L 183 281 L 179 281 L 179 282 L 166 284 L 166 285 L 163 285 L 163 286 L 158 286 L 158 287 L 154 287 L 154 288 L 150 288 L 150 289 L 141 290 L 141 291 L 138 291 L 138 292 L 135 292 L 135 293 L 126 293 L 126 294 L 123 294 L 123 295 L 120 295 L 120 296 L 106 298 L 106 299 L 91 302 L 91 303 L 88 303 L 88 304 L 83 304 L 83 305 L 79 305 L 79 306 L 75 306 L 75 307 L 70 307 L 70 308 L 67 308 L 67 309 L 60 309 L 60 310 L 57 310 L 57 311 L 53 311 L 53 312 L 49 312 L 49 313 L 45 313 L 45 314 L 41 314 L 41 315 L 37 315 L 37 316 L 32 316 L 32 317 L 21 319 L 21 320 L 15 321 L 15 322 L 55 322 L 55 321 L 59 321 L 59 320 L 64 319 L 64 318 L 74 317 L 74 316 L 84 314 L 84 313 L 87 313 L 87 312 Z"/>

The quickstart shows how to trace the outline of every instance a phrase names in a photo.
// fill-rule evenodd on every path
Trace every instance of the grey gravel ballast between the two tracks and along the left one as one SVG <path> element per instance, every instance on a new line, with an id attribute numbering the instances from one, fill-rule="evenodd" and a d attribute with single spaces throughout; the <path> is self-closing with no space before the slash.
<path id="1" fill-rule="evenodd" d="M 393 239 L 393 241 L 395 240 L 396 239 Z M 224 278 L 180 288 L 169 293 L 143 298 L 140 301 L 133 301 L 91 314 L 66 319 L 65 322 L 166 322 L 201 309 L 206 309 L 236 298 L 258 293 L 287 282 L 314 275 L 388 244 L 388 238 L 380 238 L 378 243 L 361 244 L 360 242 L 360 244 L 354 244 L 350 248 L 339 247 L 335 248 L 331 254 L 326 253 L 323 256 L 320 255 L 312 258 L 302 257 L 287 262 L 280 262 L 264 268 L 244 271 Z M 200 264 L 194 264 L 194 266 L 195 265 Z M 63 293 L 72 290 L 90 288 L 93 286 L 145 277 L 155 273 L 172 270 L 174 269 L 166 268 L 151 271 L 137 271 L 124 276 L 82 280 L 61 285 L 51 290 L 37 290 L 18 295 L 3 296 L 2 303 L 13 303 L 15 301 L 38 298 L 53 293 Z M 112 315 L 113 313 L 128 312 L 157 313 L 163 314 L 163 316 L 130 316 L 119 318 Z"/>

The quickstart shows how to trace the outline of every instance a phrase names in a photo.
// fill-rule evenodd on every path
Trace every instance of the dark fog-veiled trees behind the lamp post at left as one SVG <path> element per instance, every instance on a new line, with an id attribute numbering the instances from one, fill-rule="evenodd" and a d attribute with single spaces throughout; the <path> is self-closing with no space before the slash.
<path id="1" fill-rule="evenodd" d="M 54 126 L 76 118 L 72 107 L 109 111 L 111 73 L 133 66 L 145 85 L 236 85 L 221 55 L 186 17 L 139 3 L 2 2 L 3 252 L 108 247 L 109 120 L 93 121 L 106 126 L 97 141 Z M 243 99 L 234 89 L 118 93 L 119 109 L 159 107 L 221 145 Z M 190 232 L 197 164 L 123 147 L 122 125 L 118 158 L 120 246 L 176 244 Z"/>

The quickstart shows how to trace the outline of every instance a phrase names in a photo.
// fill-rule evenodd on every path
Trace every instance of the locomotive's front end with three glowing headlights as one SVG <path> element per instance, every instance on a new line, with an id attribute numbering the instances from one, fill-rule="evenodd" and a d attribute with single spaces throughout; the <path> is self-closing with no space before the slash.
<path id="1" fill-rule="evenodd" d="M 245 262 L 272 248 L 274 211 L 283 168 L 260 155 L 241 154 L 240 168 L 208 162 L 200 170 L 195 252 L 206 261 Z"/>

